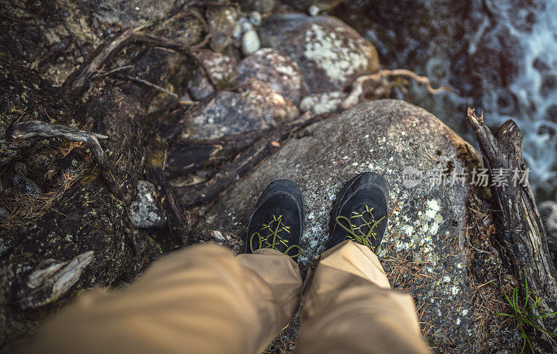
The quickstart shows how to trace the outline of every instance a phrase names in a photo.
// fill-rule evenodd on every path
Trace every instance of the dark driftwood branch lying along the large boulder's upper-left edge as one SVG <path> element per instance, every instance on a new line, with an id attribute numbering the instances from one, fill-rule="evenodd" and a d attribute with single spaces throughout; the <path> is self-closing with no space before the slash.
<path id="1" fill-rule="evenodd" d="M 265 157 L 276 151 L 284 140 L 309 124 L 330 116 L 330 114 L 311 115 L 304 113 L 292 122 L 278 125 L 271 131 L 265 131 L 249 147 L 237 154 L 233 161 L 225 163 L 223 168 L 209 181 L 195 186 L 176 188 L 182 205 L 185 208 L 191 208 L 217 198 L 219 193 L 234 186 L 237 179 L 244 177 Z M 251 138 L 253 139 L 254 136 L 251 136 Z"/>

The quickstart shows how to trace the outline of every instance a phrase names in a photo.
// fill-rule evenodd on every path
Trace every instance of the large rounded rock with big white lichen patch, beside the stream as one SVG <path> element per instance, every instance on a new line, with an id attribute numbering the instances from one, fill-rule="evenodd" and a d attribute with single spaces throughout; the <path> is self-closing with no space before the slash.
<path id="1" fill-rule="evenodd" d="M 263 47 L 284 51 L 298 63 L 310 93 L 341 90 L 379 69 L 375 47 L 335 17 L 276 15 L 258 31 Z"/>

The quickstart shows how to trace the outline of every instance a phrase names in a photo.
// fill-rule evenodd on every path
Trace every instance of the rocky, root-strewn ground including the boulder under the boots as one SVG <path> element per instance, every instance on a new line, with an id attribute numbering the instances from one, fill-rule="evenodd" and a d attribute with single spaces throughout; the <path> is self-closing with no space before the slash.
<path id="1" fill-rule="evenodd" d="M 430 175 L 479 168 L 480 155 L 393 99 L 409 75 L 385 74 L 370 42 L 327 15 L 340 1 L 302 2 L 3 3 L 1 346 L 165 252 L 207 241 L 240 252 L 278 177 L 304 191 L 305 273 L 338 189 L 372 170 L 391 188 L 379 257 L 416 300 L 427 344 L 517 351 L 514 323 L 496 315 L 514 283 L 492 246 L 489 191 Z M 421 183 L 405 183 L 405 168 Z M 268 351 L 292 351 L 298 328 L 299 316 Z"/>

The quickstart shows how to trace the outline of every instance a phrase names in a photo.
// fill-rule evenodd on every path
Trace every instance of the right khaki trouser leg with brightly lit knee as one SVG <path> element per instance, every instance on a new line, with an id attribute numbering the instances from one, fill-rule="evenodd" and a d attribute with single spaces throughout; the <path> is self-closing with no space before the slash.
<path id="1" fill-rule="evenodd" d="M 365 246 L 340 243 L 304 285 L 298 353 L 427 353 L 411 297 L 391 290 Z"/>

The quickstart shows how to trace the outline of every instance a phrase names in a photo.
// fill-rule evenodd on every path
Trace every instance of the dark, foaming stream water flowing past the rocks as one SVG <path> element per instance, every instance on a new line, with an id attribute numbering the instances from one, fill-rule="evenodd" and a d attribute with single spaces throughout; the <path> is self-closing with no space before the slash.
<path id="1" fill-rule="evenodd" d="M 347 0 L 334 15 L 377 47 L 384 67 L 455 89 L 432 96 L 414 85 L 406 99 L 467 140 L 476 141 L 468 106 L 492 128 L 515 120 L 538 203 L 557 209 L 557 0 Z"/>

